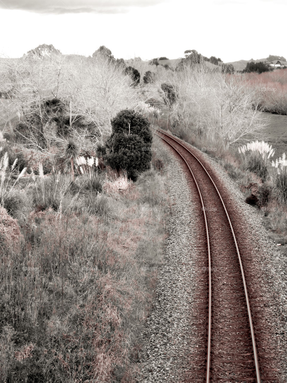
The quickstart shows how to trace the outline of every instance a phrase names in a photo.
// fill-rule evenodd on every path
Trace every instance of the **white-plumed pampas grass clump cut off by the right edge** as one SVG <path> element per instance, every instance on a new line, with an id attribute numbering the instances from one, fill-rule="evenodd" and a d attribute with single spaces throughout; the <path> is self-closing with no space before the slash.
<path id="1" fill-rule="evenodd" d="M 279 203 L 287 202 L 287 159 L 285 153 L 282 157 L 272 161 L 274 167 L 275 195 Z M 275 170 L 276 169 L 276 170 Z"/>

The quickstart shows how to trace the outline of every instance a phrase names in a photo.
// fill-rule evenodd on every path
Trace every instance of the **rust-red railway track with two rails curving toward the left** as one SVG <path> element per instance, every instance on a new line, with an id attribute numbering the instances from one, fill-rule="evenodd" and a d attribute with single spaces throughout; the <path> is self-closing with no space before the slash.
<path id="1" fill-rule="evenodd" d="M 259 366 L 245 273 L 223 198 L 209 172 L 188 147 L 163 131 L 157 130 L 157 134 L 188 169 L 199 197 L 205 232 L 202 246 L 207 259 L 197 260 L 202 290 L 196 297 L 199 308 L 194 325 L 202 339 L 206 339 L 206 346 L 194 348 L 184 382 L 278 381 L 265 373 L 275 369 Z M 264 352 L 261 357 L 269 362 Z"/>

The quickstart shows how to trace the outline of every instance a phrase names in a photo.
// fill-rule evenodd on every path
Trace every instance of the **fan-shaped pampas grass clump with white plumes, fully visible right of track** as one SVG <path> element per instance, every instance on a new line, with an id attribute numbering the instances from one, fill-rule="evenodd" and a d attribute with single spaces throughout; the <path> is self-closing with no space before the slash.
<path id="1" fill-rule="evenodd" d="M 268 174 L 270 158 L 274 155 L 272 145 L 256 140 L 238 147 L 238 151 L 243 155 L 247 169 L 265 180 Z"/>

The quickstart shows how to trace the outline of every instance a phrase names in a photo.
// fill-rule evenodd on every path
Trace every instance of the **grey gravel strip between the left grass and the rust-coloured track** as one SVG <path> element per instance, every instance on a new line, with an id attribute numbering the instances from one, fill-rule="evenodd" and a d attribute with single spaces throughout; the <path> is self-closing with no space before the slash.
<path id="1" fill-rule="evenodd" d="M 202 345 L 205 342 L 191 332 L 191 306 L 196 289 L 192 272 L 198 255 L 196 237 L 201 217 L 194 214 L 192 196 L 178 160 L 165 146 L 161 146 L 157 154 L 167 164 L 169 196 L 174 205 L 157 298 L 142 334 L 138 383 L 183 381 L 184 371 L 190 367 L 191 346 L 198 347 L 200 342 Z"/>

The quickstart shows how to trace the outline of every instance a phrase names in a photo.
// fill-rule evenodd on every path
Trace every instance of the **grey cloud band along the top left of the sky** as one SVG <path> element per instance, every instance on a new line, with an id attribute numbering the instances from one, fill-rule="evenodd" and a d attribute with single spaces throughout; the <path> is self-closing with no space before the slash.
<path id="1" fill-rule="evenodd" d="M 63 13 L 124 13 L 166 0 L 0 0 L 0 8 L 60 15 Z"/>

